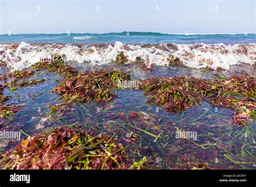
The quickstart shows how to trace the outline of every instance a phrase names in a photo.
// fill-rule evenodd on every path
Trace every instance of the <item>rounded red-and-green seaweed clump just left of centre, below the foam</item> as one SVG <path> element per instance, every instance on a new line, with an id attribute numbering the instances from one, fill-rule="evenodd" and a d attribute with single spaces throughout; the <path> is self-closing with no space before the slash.
<path id="1" fill-rule="evenodd" d="M 129 80 L 130 75 L 119 70 L 84 71 L 62 81 L 53 92 L 69 102 L 107 103 L 117 97 L 111 91 L 118 88 L 120 79 Z"/>

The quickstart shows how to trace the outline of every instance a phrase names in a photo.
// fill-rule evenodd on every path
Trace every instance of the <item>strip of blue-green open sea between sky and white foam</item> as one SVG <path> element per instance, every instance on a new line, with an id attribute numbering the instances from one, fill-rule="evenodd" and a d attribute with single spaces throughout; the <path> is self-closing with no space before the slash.
<path id="1" fill-rule="evenodd" d="M 63 33 L 63 34 L 1 34 L 1 43 L 113 43 L 116 41 L 127 44 L 157 44 L 176 43 L 176 44 L 194 44 L 196 42 L 204 44 L 245 44 L 255 43 L 256 34 L 163 34 L 154 32 L 120 32 L 120 33 Z"/>

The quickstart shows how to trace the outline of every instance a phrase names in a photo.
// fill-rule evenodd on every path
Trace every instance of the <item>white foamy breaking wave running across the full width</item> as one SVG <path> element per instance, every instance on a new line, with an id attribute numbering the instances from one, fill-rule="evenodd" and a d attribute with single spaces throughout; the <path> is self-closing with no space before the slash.
<path id="1" fill-rule="evenodd" d="M 185 66 L 193 68 L 213 69 L 218 67 L 229 69 L 239 63 L 253 64 L 256 61 L 256 44 L 160 44 L 158 46 L 126 45 L 115 42 L 107 47 L 73 44 L 30 45 L 25 42 L 15 48 L 9 44 L 0 45 L 0 60 L 6 61 L 12 69 L 28 68 L 44 58 L 51 58 L 53 54 L 60 54 L 63 59 L 78 63 L 102 65 L 116 60 L 117 55 L 123 52 L 128 62 L 136 61 L 136 57 L 144 60 L 146 66 L 166 66 L 169 56 L 179 57 Z"/>

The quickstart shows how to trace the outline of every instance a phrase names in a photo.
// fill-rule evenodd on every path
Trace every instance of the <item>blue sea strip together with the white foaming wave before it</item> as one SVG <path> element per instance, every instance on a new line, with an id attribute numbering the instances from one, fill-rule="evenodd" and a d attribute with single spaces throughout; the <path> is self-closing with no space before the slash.
<path id="1" fill-rule="evenodd" d="M 170 55 L 197 69 L 207 66 L 230 69 L 235 64 L 252 65 L 256 61 L 256 34 L 1 34 L 0 43 L 0 60 L 11 69 L 28 68 L 41 59 L 52 58 L 53 54 L 62 55 L 65 62 L 104 65 L 123 53 L 127 63 L 139 57 L 148 68 L 168 66 Z M 18 47 L 13 47 L 14 43 Z"/>

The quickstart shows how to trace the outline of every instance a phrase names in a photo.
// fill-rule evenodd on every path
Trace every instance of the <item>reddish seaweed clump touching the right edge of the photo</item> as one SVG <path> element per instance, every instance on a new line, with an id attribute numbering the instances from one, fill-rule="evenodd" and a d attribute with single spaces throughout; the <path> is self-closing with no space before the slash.
<path id="1" fill-rule="evenodd" d="M 256 78 L 246 75 L 216 76 L 208 90 L 208 100 L 218 107 L 237 110 L 232 123 L 245 125 L 255 118 Z"/>

